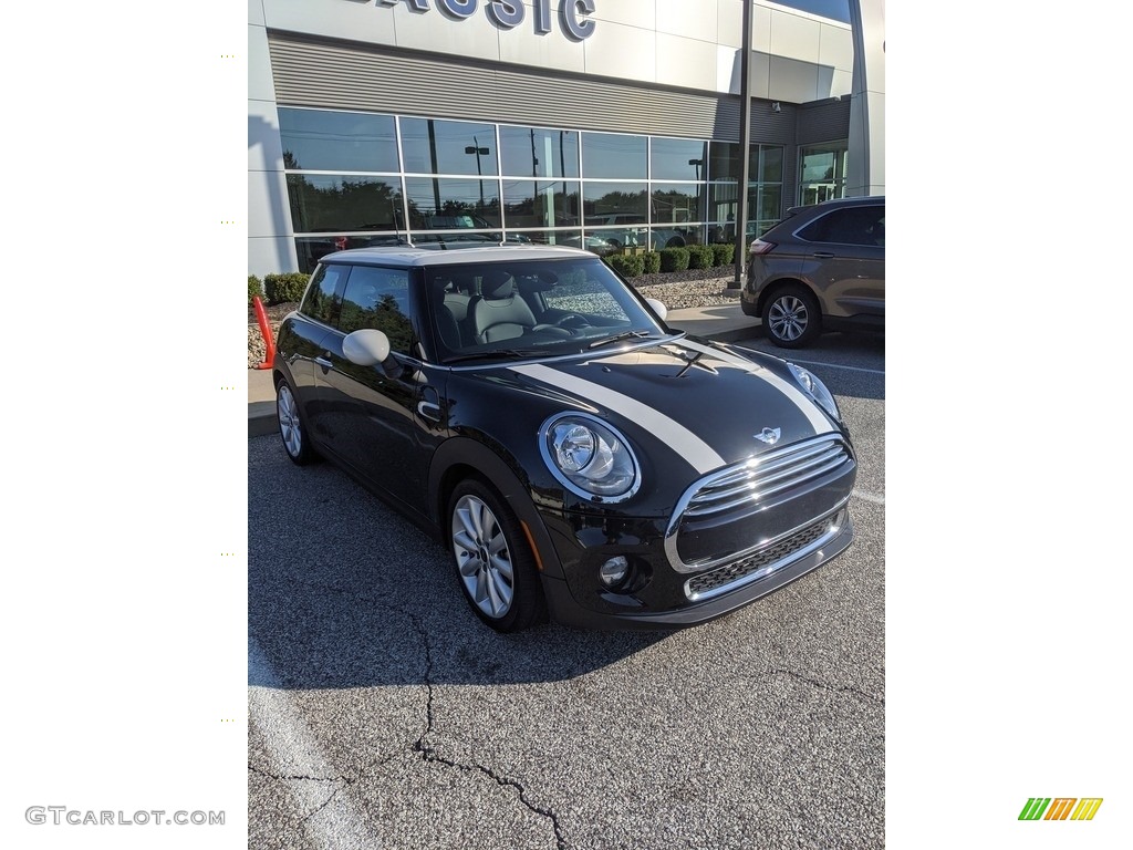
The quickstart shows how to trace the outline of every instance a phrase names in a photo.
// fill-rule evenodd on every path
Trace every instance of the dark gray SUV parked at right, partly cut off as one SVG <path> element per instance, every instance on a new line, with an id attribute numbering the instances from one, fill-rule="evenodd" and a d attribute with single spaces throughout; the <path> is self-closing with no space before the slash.
<path id="1" fill-rule="evenodd" d="M 751 244 L 741 306 L 767 339 L 801 348 L 824 331 L 885 330 L 885 197 L 795 206 Z"/>

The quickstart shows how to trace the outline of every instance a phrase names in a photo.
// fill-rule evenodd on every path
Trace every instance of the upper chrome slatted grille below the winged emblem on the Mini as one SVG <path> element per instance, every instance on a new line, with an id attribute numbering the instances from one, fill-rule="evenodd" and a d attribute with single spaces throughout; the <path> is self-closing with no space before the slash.
<path id="1" fill-rule="evenodd" d="M 790 445 L 708 476 L 681 515 L 707 517 L 758 504 L 834 471 L 850 460 L 846 444 L 837 436 Z"/>

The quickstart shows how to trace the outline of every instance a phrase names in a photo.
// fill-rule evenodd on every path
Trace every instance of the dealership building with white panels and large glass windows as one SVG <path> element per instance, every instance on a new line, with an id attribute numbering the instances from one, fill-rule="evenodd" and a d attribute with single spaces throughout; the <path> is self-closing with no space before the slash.
<path id="1" fill-rule="evenodd" d="M 248 272 L 407 239 L 734 241 L 884 194 L 884 0 L 849 6 L 249 0 Z"/>

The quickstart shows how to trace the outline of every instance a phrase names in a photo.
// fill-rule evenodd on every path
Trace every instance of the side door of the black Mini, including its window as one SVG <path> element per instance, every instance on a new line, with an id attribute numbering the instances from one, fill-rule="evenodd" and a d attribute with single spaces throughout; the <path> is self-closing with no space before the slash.
<path id="1" fill-rule="evenodd" d="M 338 330 L 322 340 L 315 359 L 315 380 L 323 400 L 321 431 L 339 459 L 367 484 L 424 511 L 431 451 L 425 432 L 432 423 L 420 418 L 418 408 L 440 393 L 419 357 L 420 313 L 409 282 L 407 269 L 351 269 Z M 347 334 L 364 328 L 389 338 L 384 363 L 359 366 L 343 355 Z"/>

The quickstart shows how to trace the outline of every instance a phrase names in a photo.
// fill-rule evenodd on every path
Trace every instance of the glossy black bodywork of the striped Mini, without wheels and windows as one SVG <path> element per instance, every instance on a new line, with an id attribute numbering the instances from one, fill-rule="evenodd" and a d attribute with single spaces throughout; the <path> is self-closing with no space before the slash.
<path id="1" fill-rule="evenodd" d="M 612 275 L 579 250 L 461 254 L 486 267 L 528 250 L 540 262 L 562 257 L 587 274 Z M 347 334 L 331 326 L 333 311 L 324 309 L 324 324 L 300 308 L 280 329 L 276 380 L 295 391 L 321 454 L 442 539 L 454 487 L 471 477 L 493 487 L 522 526 L 555 620 L 590 628 L 693 624 L 781 587 L 850 544 L 845 505 L 857 474 L 850 435 L 784 360 L 674 333 L 642 312 L 641 329 L 624 339 L 611 334 L 608 315 L 595 313 L 586 329 L 546 342 L 547 356 L 509 340 L 512 348 L 485 350 L 484 359 L 484 346 L 470 346 L 471 354 L 445 362 L 436 325 L 442 299 L 423 289 L 448 273 L 436 263 L 457 269 L 459 261 L 436 257 L 409 249 L 326 257 L 406 270 L 409 297 L 400 308 L 410 321 L 398 331 L 406 350 L 358 365 L 343 350 Z M 531 291 L 553 287 L 570 284 Z M 543 295 L 523 297 L 542 320 L 573 315 Z M 631 290 L 617 298 L 631 312 L 640 301 Z M 536 328 L 523 339 L 547 333 Z M 613 496 L 565 486 L 545 443 L 548 423 L 563 415 L 604 423 L 624 440 L 640 486 Z M 604 585 L 599 568 L 620 556 L 628 575 Z"/>

